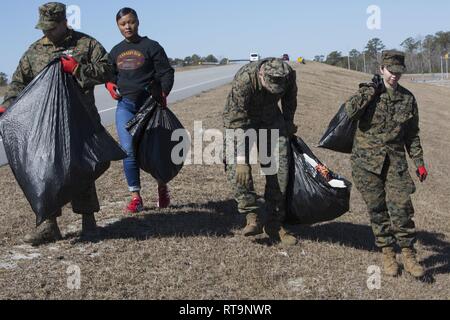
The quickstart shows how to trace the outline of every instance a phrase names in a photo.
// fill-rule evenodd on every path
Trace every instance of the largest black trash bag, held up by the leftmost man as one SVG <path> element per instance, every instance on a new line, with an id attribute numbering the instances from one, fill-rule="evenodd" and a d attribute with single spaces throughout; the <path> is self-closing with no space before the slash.
<path id="1" fill-rule="evenodd" d="M 126 153 L 92 117 L 78 84 L 51 62 L 0 118 L 9 165 L 37 225 Z"/>

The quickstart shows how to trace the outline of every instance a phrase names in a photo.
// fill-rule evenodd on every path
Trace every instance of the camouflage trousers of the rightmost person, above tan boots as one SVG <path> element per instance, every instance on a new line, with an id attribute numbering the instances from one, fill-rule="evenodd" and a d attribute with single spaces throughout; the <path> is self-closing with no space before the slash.
<path id="1" fill-rule="evenodd" d="M 411 194 L 416 189 L 408 169 L 392 166 L 389 157 L 381 175 L 352 164 L 353 180 L 369 209 L 372 230 L 379 248 L 397 243 L 412 248 L 416 240 Z"/>

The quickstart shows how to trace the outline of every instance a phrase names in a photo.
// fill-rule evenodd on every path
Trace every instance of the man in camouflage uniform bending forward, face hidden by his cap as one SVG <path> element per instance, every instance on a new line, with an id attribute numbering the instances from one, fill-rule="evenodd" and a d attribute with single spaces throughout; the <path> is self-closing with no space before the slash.
<path id="1" fill-rule="evenodd" d="M 278 106 L 280 100 L 282 111 Z M 264 232 L 272 240 L 281 240 L 287 245 L 297 243 L 297 239 L 282 226 L 286 214 L 289 138 L 297 131 L 294 125 L 296 109 L 295 71 L 281 59 L 269 58 L 247 64 L 238 71 L 223 114 L 225 129 L 242 129 L 244 132 L 249 129 L 279 130 L 278 174 L 266 175 L 264 198 L 267 221 L 264 224 Z M 270 136 L 268 141 L 270 144 Z M 259 143 L 260 141 L 258 141 L 258 148 L 261 148 Z M 268 150 L 272 150 L 272 146 L 267 147 Z M 237 155 L 236 149 L 239 147 L 236 142 L 234 142 L 234 148 L 234 154 Z M 248 153 L 248 150 L 246 152 Z M 254 236 L 263 232 L 263 225 L 251 166 L 248 157 L 245 158 L 244 164 L 236 161 L 238 159 L 235 159 L 233 163 L 228 162 L 226 172 L 233 186 L 239 212 L 247 215 L 247 226 L 243 234 Z"/>

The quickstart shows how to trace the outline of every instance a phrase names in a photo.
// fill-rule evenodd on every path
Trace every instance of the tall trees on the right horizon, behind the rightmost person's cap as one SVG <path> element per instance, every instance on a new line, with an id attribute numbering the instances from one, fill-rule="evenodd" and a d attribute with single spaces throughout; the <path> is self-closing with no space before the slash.
<path id="1" fill-rule="evenodd" d="M 405 52 L 408 73 L 439 73 L 450 50 L 450 32 L 439 31 L 425 37 L 409 37 L 400 43 Z M 376 73 L 381 62 L 381 52 L 386 49 L 379 38 L 370 39 L 363 51 L 351 50 L 348 55 L 340 51 L 330 52 L 326 57 L 317 55 L 314 61 L 366 73 Z"/>

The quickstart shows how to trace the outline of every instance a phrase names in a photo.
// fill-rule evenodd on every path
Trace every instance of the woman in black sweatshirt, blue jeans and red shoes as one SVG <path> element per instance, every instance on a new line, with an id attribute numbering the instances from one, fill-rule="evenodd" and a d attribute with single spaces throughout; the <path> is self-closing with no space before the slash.
<path id="1" fill-rule="evenodd" d="M 131 192 L 128 213 L 144 209 L 141 197 L 140 169 L 133 150 L 132 137 L 126 130 L 128 121 L 134 118 L 142 104 L 150 96 L 167 107 L 167 96 L 174 83 L 174 69 L 161 45 L 139 35 L 139 18 L 131 8 L 121 9 L 116 16 L 117 26 L 124 40 L 110 53 L 115 79 L 106 84 L 112 98 L 118 100 L 116 126 L 122 147 L 128 154 L 124 171 Z M 167 185 L 158 186 L 159 208 L 170 205 Z"/>

